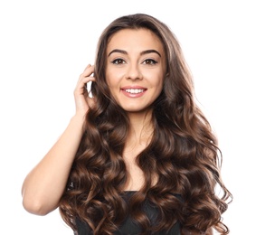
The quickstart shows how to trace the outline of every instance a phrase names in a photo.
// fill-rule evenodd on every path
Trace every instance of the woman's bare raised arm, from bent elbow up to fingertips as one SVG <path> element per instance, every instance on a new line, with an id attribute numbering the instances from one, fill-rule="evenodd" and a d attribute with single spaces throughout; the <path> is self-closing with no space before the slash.
<path id="1" fill-rule="evenodd" d="M 85 116 L 93 104 L 93 99 L 84 91 L 85 84 L 94 81 L 90 77 L 93 70 L 93 66 L 86 67 L 74 90 L 75 116 L 50 151 L 24 179 L 22 195 L 26 211 L 45 215 L 58 207 L 81 142 Z"/>

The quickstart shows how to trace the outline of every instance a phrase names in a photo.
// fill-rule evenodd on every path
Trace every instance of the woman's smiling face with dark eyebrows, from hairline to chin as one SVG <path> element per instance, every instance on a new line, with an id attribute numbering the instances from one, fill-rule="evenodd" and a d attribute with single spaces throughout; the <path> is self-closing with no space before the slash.
<path id="1" fill-rule="evenodd" d="M 124 29 L 107 46 L 106 80 L 119 106 L 128 112 L 146 111 L 163 89 L 166 54 L 156 34 Z"/>

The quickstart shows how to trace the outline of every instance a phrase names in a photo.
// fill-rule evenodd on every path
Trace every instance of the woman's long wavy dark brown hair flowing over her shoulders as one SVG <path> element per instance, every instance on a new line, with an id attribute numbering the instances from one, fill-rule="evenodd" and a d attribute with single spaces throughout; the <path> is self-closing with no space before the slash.
<path id="1" fill-rule="evenodd" d="M 153 104 L 151 142 L 137 155 L 145 183 L 126 202 L 122 194 L 128 171 L 122 155 L 129 119 L 111 97 L 106 82 L 106 49 L 114 33 L 141 28 L 156 33 L 163 43 L 166 78 Z M 141 234 L 170 230 L 176 221 L 184 233 L 202 234 L 214 228 L 228 234 L 222 214 L 232 201 L 232 193 L 222 181 L 222 153 L 209 122 L 196 105 L 192 75 L 175 34 L 147 14 L 119 17 L 100 36 L 94 76 L 91 91 L 96 103 L 86 116 L 85 131 L 62 195 L 62 219 L 76 231 L 79 218 L 89 224 L 93 234 L 100 235 L 112 234 L 128 214 L 140 225 Z M 154 185 L 152 172 L 157 175 Z M 216 193 L 216 188 L 221 193 Z M 173 193 L 179 193 L 182 201 Z M 159 211 L 154 225 L 141 208 L 146 200 Z"/>

